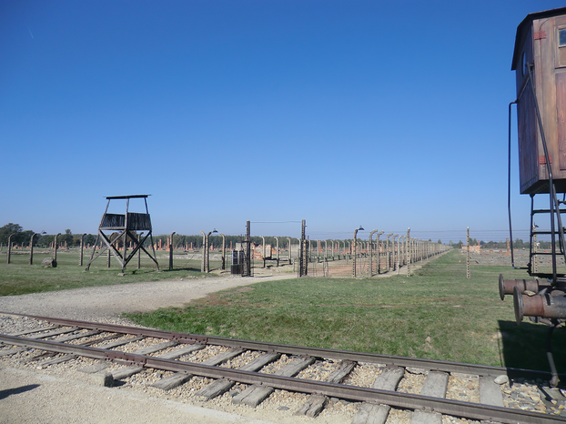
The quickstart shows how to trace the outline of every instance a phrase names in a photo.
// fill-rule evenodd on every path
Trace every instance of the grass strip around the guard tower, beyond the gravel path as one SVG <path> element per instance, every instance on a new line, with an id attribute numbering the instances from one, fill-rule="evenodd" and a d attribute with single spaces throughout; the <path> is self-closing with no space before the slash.
<path id="1" fill-rule="evenodd" d="M 200 272 L 200 262 L 197 257 L 191 261 L 175 261 L 171 271 L 168 270 L 168 257 L 167 259 L 159 258 L 159 268 L 162 271 L 157 272 L 153 261 L 147 256 L 142 256 L 140 269 L 136 269 L 137 258 L 134 258 L 126 268 L 126 275 L 120 276 L 118 274 L 121 273 L 122 268 L 114 258 L 111 259 L 111 268 L 106 268 L 106 256 L 98 257 L 90 270 L 86 271 L 91 250 L 85 250 L 83 267 L 78 266 L 78 250 L 59 250 L 57 268 L 42 267 L 41 261 L 45 257 L 51 257 L 46 250 L 34 251 L 34 264 L 31 266 L 29 265 L 29 254 L 14 254 L 13 252 L 10 264 L 7 264 L 5 250 L 3 253 L 4 255 L 0 255 L 0 296 L 187 278 L 188 276 L 207 277 L 207 274 Z M 214 268 L 214 266 L 215 264 L 211 263 L 211 267 Z"/>

